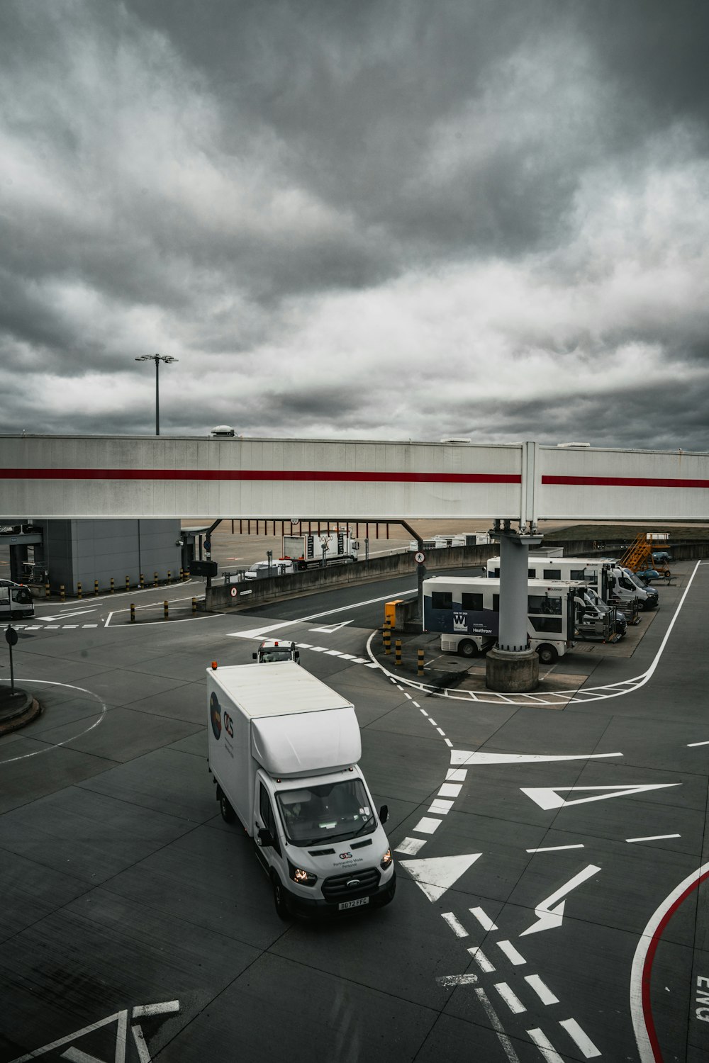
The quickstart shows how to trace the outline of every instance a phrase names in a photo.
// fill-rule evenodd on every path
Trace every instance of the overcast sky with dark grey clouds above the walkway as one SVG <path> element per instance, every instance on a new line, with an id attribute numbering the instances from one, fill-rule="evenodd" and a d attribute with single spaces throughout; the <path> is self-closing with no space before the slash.
<path id="1" fill-rule="evenodd" d="M 706 0 L 2 0 L 0 432 L 709 451 Z"/>

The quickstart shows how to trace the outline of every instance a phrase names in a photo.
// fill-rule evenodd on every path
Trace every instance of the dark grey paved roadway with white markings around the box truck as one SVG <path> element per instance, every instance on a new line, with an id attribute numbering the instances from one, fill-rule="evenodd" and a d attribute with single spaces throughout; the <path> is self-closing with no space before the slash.
<path id="1" fill-rule="evenodd" d="M 709 1059 L 709 567 L 563 710 L 386 675 L 368 639 L 406 583 L 195 619 L 188 587 L 38 607 L 15 670 L 45 711 L 0 739 L 3 1063 Z M 217 814 L 204 671 L 261 631 L 355 703 L 398 850 L 382 911 L 281 923 Z"/>

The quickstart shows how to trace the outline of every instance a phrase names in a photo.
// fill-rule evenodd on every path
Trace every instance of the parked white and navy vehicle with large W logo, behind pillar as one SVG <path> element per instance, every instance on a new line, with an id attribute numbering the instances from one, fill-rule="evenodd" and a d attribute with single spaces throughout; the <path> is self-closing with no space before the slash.
<path id="1" fill-rule="evenodd" d="M 602 612 L 580 581 L 529 579 L 527 635 L 544 664 L 553 664 L 579 637 L 579 625 L 598 625 L 605 641 L 620 638 L 617 610 Z M 423 629 L 441 632 L 441 649 L 475 657 L 494 645 L 500 624 L 500 579 L 433 576 L 423 581 Z"/>

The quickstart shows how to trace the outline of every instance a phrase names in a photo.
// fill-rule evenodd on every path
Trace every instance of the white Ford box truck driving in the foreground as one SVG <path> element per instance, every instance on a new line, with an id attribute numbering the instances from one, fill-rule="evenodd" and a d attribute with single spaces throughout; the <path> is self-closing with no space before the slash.
<path id="1" fill-rule="evenodd" d="M 281 918 L 387 905 L 396 878 L 354 706 L 293 661 L 207 669 L 208 766 Z"/>

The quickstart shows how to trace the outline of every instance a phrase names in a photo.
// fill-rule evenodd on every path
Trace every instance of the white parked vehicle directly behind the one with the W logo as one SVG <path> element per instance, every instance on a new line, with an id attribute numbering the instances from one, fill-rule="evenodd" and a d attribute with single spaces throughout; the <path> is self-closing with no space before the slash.
<path id="1" fill-rule="evenodd" d="M 529 554 L 530 579 L 580 579 L 594 587 L 608 605 L 628 606 L 631 610 L 637 598 L 637 608 L 654 609 L 658 604 L 657 591 L 641 581 L 629 578 L 617 561 L 593 557 L 535 557 Z M 500 558 L 490 557 L 486 562 L 489 576 L 500 576 Z"/>

